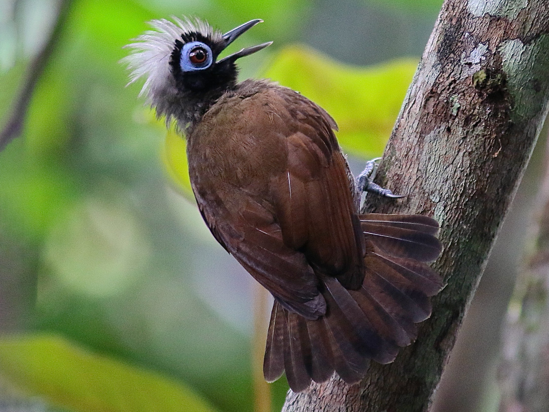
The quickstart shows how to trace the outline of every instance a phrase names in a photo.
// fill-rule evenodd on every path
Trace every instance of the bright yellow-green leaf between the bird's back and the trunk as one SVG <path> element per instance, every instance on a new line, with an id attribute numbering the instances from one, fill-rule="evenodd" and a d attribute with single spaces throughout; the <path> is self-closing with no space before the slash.
<path id="1" fill-rule="evenodd" d="M 393 130 L 416 66 L 415 59 L 400 59 L 361 68 L 295 45 L 277 54 L 264 77 L 326 109 L 338 123 L 338 140 L 346 151 L 375 157 Z"/>

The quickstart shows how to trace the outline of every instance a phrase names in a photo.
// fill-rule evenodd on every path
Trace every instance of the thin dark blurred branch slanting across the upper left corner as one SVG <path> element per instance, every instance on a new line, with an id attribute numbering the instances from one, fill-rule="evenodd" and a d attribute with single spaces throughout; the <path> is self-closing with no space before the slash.
<path id="1" fill-rule="evenodd" d="M 61 0 L 59 2 L 57 15 L 55 17 L 55 25 L 48 37 L 48 41 L 44 44 L 40 53 L 32 60 L 23 88 L 14 104 L 12 115 L 8 118 L 4 129 L 0 131 L 0 151 L 2 151 L 15 137 L 18 137 L 21 133 L 21 129 L 23 129 L 23 123 L 32 97 L 32 92 L 34 91 L 36 83 L 38 82 L 38 79 L 40 79 L 44 68 L 46 68 L 46 65 L 49 62 L 49 58 L 55 49 L 61 31 L 63 31 L 63 26 L 66 17 L 69 14 L 71 3 L 72 0 Z"/>

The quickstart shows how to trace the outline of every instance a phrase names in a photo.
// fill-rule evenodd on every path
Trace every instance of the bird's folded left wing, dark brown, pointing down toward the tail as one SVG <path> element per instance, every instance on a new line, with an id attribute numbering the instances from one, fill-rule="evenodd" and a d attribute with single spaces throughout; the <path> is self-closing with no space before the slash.
<path id="1" fill-rule="evenodd" d="M 306 319 L 323 315 L 326 303 L 305 255 L 284 244 L 280 226 L 267 208 L 245 192 L 238 198 L 238 209 L 227 209 L 220 198 L 212 213 L 211 201 L 197 195 L 202 216 L 216 240 L 285 308 Z"/>

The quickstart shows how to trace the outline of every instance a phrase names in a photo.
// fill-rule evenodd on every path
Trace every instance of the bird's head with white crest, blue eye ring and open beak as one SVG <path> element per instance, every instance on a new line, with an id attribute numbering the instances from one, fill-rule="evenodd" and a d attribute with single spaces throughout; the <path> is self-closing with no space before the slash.
<path id="1" fill-rule="evenodd" d="M 223 50 L 245 31 L 261 23 L 250 20 L 225 34 L 198 19 L 152 20 L 149 30 L 128 44 L 132 53 L 122 59 L 131 70 L 130 83 L 146 77 L 139 94 L 169 123 L 180 128 L 199 120 L 225 91 L 236 85 L 236 60 L 260 51 L 272 42 L 244 48 L 218 59 Z M 130 84 L 128 83 L 128 84 Z"/>

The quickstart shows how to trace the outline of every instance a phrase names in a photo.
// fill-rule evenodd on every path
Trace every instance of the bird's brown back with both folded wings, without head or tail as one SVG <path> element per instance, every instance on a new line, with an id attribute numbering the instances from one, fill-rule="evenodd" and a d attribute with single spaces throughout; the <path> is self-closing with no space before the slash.
<path id="1" fill-rule="evenodd" d="M 279 86 L 210 112 L 188 146 L 206 224 L 285 308 L 318 318 L 326 311 L 319 274 L 354 288 L 363 279 L 363 236 L 335 123 Z"/>

